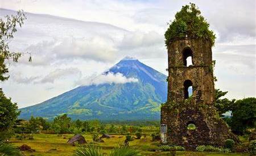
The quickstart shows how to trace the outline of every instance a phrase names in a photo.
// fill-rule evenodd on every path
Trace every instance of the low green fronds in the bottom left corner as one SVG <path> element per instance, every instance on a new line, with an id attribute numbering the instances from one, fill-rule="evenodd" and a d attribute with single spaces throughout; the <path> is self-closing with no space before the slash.
<path id="1" fill-rule="evenodd" d="M 14 145 L 0 142 L 0 155 L 19 156 L 22 154 Z"/>

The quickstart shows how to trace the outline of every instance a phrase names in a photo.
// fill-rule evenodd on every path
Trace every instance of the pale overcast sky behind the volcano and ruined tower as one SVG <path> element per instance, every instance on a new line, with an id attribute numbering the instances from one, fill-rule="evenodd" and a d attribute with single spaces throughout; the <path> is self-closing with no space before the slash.
<path id="1" fill-rule="evenodd" d="M 255 1 L 1 0 L 0 18 L 27 12 L 10 49 L 30 52 L 7 62 L 1 87 L 19 108 L 90 82 L 125 56 L 166 73 L 164 32 L 181 6 L 196 3 L 217 35 L 213 47 L 216 88 L 242 99 L 255 93 Z M 136 81 L 110 75 L 118 83 Z M 98 78 L 97 81 L 102 81 Z"/>

